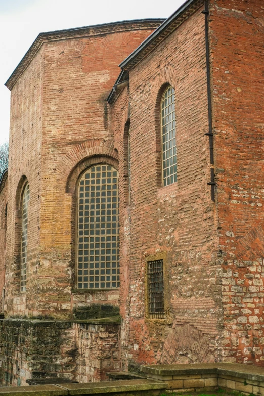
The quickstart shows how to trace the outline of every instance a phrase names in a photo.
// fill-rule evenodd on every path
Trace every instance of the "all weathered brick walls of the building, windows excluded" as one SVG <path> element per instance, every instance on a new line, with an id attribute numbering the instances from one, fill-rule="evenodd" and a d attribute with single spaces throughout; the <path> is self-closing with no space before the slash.
<path id="1" fill-rule="evenodd" d="M 89 316 L 93 304 L 113 305 L 115 314 L 120 305 L 120 339 L 118 325 L 104 331 L 99 325 L 73 326 L 80 381 L 102 379 L 109 369 L 138 370 L 142 363 L 263 365 L 264 9 L 260 0 L 209 3 L 215 203 L 207 185 L 203 7 L 129 70 L 129 85 L 110 105 L 106 98 L 118 63 L 153 26 L 127 23 L 51 39 L 12 89 L 8 189 L 1 192 L 0 207 L 3 240 L 8 193 L 5 311 L 7 317 L 72 320 Z M 178 182 L 162 187 L 159 106 L 167 84 L 175 89 Z M 73 290 L 76 183 L 98 162 L 115 166 L 120 176 L 120 295 Z M 20 294 L 20 197 L 26 180 L 28 279 L 27 293 Z M 149 256 L 164 259 L 162 320 L 146 314 Z M 12 356 L 4 369 L 9 373 L 16 359 L 12 342 L 2 339 L 1 345 L 4 355 Z M 211 386 L 215 380 L 206 382 Z"/>

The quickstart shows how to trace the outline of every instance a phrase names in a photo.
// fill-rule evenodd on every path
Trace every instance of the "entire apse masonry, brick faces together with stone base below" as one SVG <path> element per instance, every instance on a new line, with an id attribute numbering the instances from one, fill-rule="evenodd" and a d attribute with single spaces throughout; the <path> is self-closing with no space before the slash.
<path id="1" fill-rule="evenodd" d="M 118 313 L 118 290 L 87 293 L 73 290 L 75 187 L 80 172 L 92 163 L 108 162 L 118 168 L 118 152 L 108 129 L 105 99 L 119 74 L 118 64 L 156 26 L 157 21 L 128 22 L 91 29 L 87 37 L 74 38 L 70 32 L 69 37 L 50 40 L 42 44 L 14 85 L 8 178 L 6 317 L 68 320 L 74 316 L 78 319 L 78 310 L 85 311 L 85 307 L 92 304 L 114 306 L 117 309 L 113 309 L 113 315 Z M 27 292 L 21 294 L 20 203 L 26 181 L 30 187 Z M 5 204 L 3 194 L 6 190 L 2 193 L 1 205 Z M 64 333 L 55 334 L 48 326 L 41 334 L 41 331 L 33 331 L 26 321 L 21 321 L 18 330 L 12 327 L 12 322 L 3 322 L 2 383 L 24 383 L 34 375 L 72 378 L 76 367 L 80 377 L 84 375 L 95 381 L 105 378 L 106 370 L 120 370 L 118 324 L 108 325 L 105 331 L 97 331 L 97 326 L 91 325 L 85 332 L 79 330 L 80 325 L 74 326 L 69 330 L 70 342 L 75 342 L 77 335 L 80 339 L 70 348 L 68 359 L 69 345 L 63 343 Z M 44 326 L 41 323 L 39 326 Z M 42 363 L 31 367 L 28 362 L 34 361 L 34 342 L 43 342 L 47 354 L 43 351 Z M 25 343 L 29 344 L 29 350 L 23 349 Z M 70 359 L 75 357 L 78 347 L 80 355 L 76 366 Z M 92 350 L 94 358 L 90 359 L 87 354 L 91 356 Z M 50 360 L 52 355 L 60 362 L 55 369 L 49 368 L 49 364 L 54 363 Z M 68 369 L 64 368 L 64 363 Z M 22 371 L 18 373 L 15 366 Z"/>

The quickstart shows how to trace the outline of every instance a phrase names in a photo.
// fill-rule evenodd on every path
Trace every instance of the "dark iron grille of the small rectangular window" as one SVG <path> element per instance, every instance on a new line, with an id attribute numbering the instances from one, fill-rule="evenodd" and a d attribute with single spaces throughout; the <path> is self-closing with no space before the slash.
<path id="1" fill-rule="evenodd" d="M 148 262 L 148 305 L 150 318 L 164 318 L 163 260 Z"/>

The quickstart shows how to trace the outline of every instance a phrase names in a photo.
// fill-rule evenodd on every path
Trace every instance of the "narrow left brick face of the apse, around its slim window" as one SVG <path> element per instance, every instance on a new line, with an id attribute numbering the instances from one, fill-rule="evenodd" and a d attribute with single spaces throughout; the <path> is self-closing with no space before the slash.
<path id="1" fill-rule="evenodd" d="M 21 208 L 23 183 L 29 182 L 27 289 L 39 260 L 39 212 L 42 129 L 42 54 L 40 49 L 11 92 L 6 260 L 7 316 L 28 315 L 30 298 L 20 293 Z M 34 290 L 33 294 L 37 291 Z"/>

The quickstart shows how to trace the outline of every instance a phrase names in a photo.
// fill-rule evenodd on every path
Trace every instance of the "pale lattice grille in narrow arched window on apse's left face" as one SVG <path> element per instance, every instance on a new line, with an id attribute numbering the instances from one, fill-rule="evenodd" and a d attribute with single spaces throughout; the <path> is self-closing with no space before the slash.
<path id="1" fill-rule="evenodd" d="M 21 274 L 20 291 L 26 291 L 27 280 L 27 215 L 29 203 L 29 184 L 26 184 L 22 199 L 22 238 L 21 238 Z"/>

